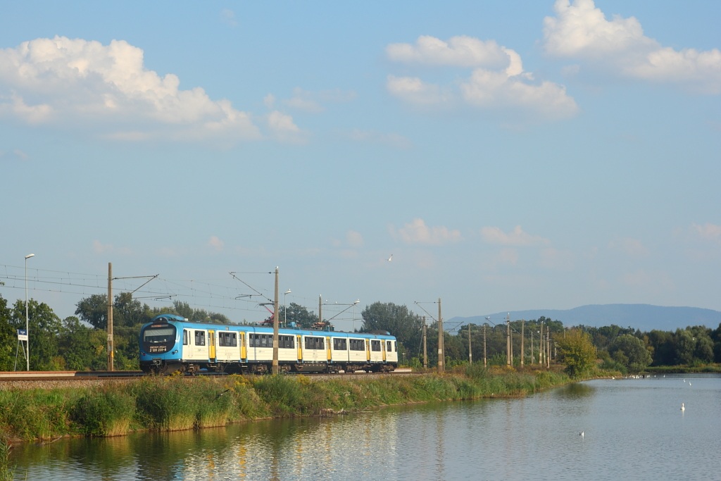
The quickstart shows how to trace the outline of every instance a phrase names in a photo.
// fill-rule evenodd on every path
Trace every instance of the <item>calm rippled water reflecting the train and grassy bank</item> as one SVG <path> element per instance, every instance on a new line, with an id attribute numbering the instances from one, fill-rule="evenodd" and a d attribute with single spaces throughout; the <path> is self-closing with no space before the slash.
<path id="1" fill-rule="evenodd" d="M 597 380 L 521 400 L 61 440 L 16 448 L 12 462 L 15 479 L 47 481 L 719 480 L 721 376 Z"/>

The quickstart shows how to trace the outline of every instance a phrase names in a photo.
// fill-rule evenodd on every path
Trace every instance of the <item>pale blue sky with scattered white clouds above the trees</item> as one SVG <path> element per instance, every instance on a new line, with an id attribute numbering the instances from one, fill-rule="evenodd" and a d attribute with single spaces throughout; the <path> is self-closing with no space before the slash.
<path id="1" fill-rule="evenodd" d="M 24 298 L 32 252 L 30 296 L 61 317 L 105 293 L 108 262 L 132 278 L 116 292 L 157 274 L 138 299 L 236 320 L 265 317 L 275 266 L 288 303 L 322 297 L 341 328 L 356 299 L 357 319 L 439 298 L 446 319 L 721 310 L 720 18 L 717 1 L 6 2 L 0 294 Z"/>

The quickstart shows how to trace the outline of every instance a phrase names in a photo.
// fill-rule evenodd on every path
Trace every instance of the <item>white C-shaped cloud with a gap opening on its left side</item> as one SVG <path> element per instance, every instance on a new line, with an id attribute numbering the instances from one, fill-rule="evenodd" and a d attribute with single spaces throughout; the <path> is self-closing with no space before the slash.
<path id="1" fill-rule="evenodd" d="M 458 107 L 521 113 L 542 119 L 572 117 L 578 112 L 565 87 L 550 81 L 534 81 L 523 71 L 515 50 L 473 37 L 451 37 L 444 42 L 428 35 L 414 45 L 394 43 L 386 47 L 392 61 L 434 67 L 472 69 L 467 79 L 440 86 L 417 76 L 389 75 L 386 89 L 395 97 L 417 106 Z"/>

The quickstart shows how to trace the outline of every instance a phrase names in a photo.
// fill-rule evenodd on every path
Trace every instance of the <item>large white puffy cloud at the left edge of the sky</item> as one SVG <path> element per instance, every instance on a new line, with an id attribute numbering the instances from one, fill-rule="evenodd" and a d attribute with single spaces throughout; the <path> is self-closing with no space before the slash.
<path id="1" fill-rule="evenodd" d="M 228 100 L 179 87 L 176 75 L 146 69 L 143 50 L 124 40 L 37 38 L 0 50 L 0 115 L 91 125 L 115 138 L 260 138 L 250 115 Z"/>

